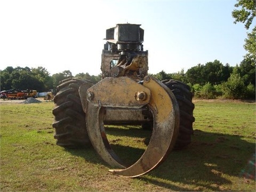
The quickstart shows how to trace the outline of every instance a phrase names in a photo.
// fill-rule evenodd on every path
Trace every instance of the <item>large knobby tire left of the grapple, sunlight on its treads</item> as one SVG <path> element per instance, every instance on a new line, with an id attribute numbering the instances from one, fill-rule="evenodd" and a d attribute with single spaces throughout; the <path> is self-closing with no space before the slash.
<path id="1" fill-rule="evenodd" d="M 66 148 L 84 148 L 91 146 L 86 130 L 85 113 L 78 93 L 79 86 L 90 81 L 69 78 L 57 86 L 54 97 L 53 128 L 56 144 Z"/>

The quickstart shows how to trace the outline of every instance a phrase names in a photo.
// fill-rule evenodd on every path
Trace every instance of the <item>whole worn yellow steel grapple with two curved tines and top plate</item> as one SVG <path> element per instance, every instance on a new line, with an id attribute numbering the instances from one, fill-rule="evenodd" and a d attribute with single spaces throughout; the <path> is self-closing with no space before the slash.
<path id="1" fill-rule="evenodd" d="M 94 149 L 122 177 L 138 177 L 161 164 L 172 150 L 179 133 L 179 106 L 162 82 L 146 76 L 143 83 L 129 77 L 104 78 L 94 86 L 81 85 L 79 94 L 86 114 L 86 126 Z M 140 110 L 147 107 L 153 116 L 153 131 L 143 155 L 126 167 L 111 149 L 105 132 L 106 110 Z"/>

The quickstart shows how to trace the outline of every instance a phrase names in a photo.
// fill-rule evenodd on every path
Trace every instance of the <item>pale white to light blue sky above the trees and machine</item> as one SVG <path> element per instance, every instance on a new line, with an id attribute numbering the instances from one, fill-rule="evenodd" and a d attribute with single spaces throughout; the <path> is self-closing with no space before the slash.
<path id="1" fill-rule="evenodd" d="M 141 24 L 149 73 L 175 73 L 214 61 L 243 60 L 246 29 L 234 24 L 235 0 L 0 1 L 0 70 L 44 67 L 51 75 L 101 73 L 106 29 Z"/>

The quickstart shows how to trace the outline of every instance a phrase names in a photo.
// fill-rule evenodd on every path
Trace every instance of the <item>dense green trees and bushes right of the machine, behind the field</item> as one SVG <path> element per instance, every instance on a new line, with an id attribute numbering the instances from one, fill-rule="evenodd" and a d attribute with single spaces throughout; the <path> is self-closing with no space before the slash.
<path id="1" fill-rule="evenodd" d="M 235 67 L 222 65 L 218 60 L 198 64 L 184 73 L 166 74 L 163 70 L 154 75 L 158 79 L 176 79 L 187 83 L 195 98 L 255 99 L 255 63 L 244 59 Z"/>

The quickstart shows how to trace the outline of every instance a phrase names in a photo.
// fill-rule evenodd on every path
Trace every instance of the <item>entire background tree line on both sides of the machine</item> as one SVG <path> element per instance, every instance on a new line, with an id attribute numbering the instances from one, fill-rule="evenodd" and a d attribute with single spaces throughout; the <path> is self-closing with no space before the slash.
<path id="1" fill-rule="evenodd" d="M 229 66 L 228 63 L 223 65 L 219 60 L 214 60 L 191 67 L 186 73 L 183 69 L 171 74 L 162 70 L 157 74 L 149 75 L 160 81 L 175 79 L 186 83 L 196 98 L 255 99 L 255 63 L 248 58 L 235 67 Z M 1 71 L 0 77 L 1 91 L 16 88 L 45 92 L 50 89 L 55 90 L 60 81 L 72 77 L 87 79 L 94 84 L 101 80 L 101 74 L 95 76 L 79 73 L 73 76 L 70 70 L 50 76 L 44 67 L 6 67 Z"/>

